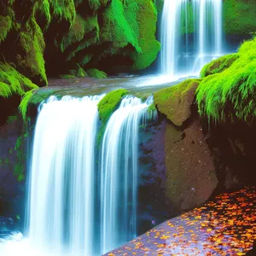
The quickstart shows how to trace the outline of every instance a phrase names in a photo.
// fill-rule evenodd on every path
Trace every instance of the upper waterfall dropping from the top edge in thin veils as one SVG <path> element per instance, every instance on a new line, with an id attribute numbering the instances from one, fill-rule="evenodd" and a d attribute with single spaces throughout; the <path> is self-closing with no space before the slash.
<path id="1" fill-rule="evenodd" d="M 165 0 L 160 73 L 198 74 L 222 54 L 222 0 Z"/>

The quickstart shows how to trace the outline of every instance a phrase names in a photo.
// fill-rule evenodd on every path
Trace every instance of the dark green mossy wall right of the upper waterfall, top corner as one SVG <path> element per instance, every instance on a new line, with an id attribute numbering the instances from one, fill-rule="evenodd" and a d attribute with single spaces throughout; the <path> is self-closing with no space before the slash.
<path id="1" fill-rule="evenodd" d="M 255 32 L 255 9 L 255 0 L 225 0 L 224 32 L 236 35 Z"/>

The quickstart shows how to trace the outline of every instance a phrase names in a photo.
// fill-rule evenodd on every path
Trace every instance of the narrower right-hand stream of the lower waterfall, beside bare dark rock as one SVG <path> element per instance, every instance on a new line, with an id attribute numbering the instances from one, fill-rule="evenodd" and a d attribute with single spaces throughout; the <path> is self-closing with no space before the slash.
<path id="1" fill-rule="evenodd" d="M 153 102 L 126 96 L 108 125 L 102 142 L 102 253 L 137 236 L 138 131 Z"/>

